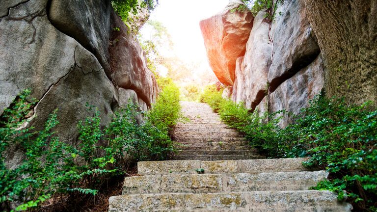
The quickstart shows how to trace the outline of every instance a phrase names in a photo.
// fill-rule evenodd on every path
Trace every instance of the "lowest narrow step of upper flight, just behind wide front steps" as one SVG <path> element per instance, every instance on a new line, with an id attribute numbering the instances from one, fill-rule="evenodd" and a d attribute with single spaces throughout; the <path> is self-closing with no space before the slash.
<path id="1" fill-rule="evenodd" d="M 191 155 L 191 156 L 174 156 L 175 160 L 242 160 L 242 159 L 265 159 L 264 156 L 247 155 L 247 156 L 232 156 L 232 155 Z"/>

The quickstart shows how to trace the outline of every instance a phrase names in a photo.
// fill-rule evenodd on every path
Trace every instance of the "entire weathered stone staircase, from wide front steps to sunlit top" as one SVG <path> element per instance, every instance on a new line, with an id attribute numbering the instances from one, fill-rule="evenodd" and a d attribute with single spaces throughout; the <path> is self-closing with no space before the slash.
<path id="1" fill-rule="evenodd" d="M 109 212 L 350 212 L 336 194 L 308 190 L 325 171 L 307 170 L 304 158 L 259 159 L 209 106 L 182 105 L 192 121 L 174 135 L 187 146 L 176 160 L 138 162 L 138 176 L 110 197 Z"/>

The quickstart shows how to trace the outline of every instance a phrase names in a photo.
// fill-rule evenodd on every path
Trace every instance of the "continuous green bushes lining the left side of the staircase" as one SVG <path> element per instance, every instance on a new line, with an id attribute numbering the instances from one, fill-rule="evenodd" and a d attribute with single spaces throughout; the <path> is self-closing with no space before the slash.
<path id="1" fill-rule="evenodd" d="M 130 160 L 166 159 L 175 151 L 168 131 L 181 115 L 179 92 L 172 83 L 164 86 L 142 124 L 135 117 L 143 112 L 132 101 L 116 111 L 104 129 L 98 109 L 88 106 L 93 115 L 78 124 L 78 149 L 55 136 L 56 111 L 43 130 L 22 128 L 35 105 L 27 102 L 29 93 L 22 93 L 0 117 L 0 205 L 6 211 L 11 205 L 16 211 L 36 208 L 57 193 L 96 195 L 111 177 L 124 175 Z M 5 157 L 16 148 L 25 152 L 25 159 L 16 168 L 7 167 Z"/>

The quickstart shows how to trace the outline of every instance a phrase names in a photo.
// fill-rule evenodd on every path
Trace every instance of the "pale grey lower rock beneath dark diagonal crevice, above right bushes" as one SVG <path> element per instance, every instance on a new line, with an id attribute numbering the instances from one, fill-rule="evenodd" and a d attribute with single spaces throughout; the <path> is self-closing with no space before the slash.
<path id="1" fill-rule="evenodd" d="M 324 70 L 321 55 L 295 76 L 287 79 L 269 96 L 269 112 L 285 109 L 298 114 L 301 108 L 307 107 L 310 99 L 319 94 L 323 88 Z M 283 115 L 279 125 L 286 127 L 292 123 L 292 117 Z"/>

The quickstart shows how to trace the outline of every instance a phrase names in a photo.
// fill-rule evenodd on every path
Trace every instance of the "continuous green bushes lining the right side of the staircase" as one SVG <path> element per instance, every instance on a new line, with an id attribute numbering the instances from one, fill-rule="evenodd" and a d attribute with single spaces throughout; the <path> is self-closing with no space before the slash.
<path id="1" fill-rule="evenodd" d="M 348 197 L 356 211 L 376 210 L 377 110 L 372 103 L 347 105 L 342 98 L 319 95 L 296 116 L 295 124 L 281 129 L 279 114 L 285 111 L 249 114 L 242 103 L 221 99 L 220 94 L 209 87 L 201 100 L 242 132 L 250 145 L 269 157 L 311 157 L 305 165 L 330 172 L 330 180 L 315 189 L 334 191 L 339 199 Z"/>

